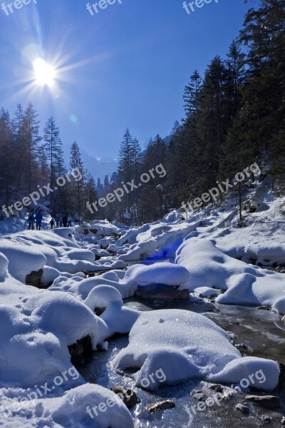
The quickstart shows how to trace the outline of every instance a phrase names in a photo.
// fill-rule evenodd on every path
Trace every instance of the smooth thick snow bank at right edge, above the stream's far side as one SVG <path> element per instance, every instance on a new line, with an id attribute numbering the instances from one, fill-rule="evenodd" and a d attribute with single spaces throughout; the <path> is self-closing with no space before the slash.
<path id="1" fill-rule="evenodd" d="M 192 292 L 200 294 L 201 287 L 227 290 L 216 302 L 265 305 L 285 313 L 283 274 L 231 258 L 206 238 L 185 240 L 177 250 L 176 262 L 190 272 L 189 290 Z"/>

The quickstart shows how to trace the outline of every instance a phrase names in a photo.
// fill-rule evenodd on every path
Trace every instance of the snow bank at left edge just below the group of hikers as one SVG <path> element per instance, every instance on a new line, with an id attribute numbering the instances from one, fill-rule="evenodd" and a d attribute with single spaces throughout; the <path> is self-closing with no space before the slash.
<path id="1" fill-rule="evenodd" d="M 0 240 L 0 253 L 9 259 L 9 274 L 23 283 L 26 275 L 41 269 L 43 285 L 48 285 L 58 277 L 58 272 L 76 274 L 83 270 L 98 272 L 126 266 L 123 260 L 95 262 L 93 251 L 80 248 L 68 228 L 26 230 L 9 235 Z"/>

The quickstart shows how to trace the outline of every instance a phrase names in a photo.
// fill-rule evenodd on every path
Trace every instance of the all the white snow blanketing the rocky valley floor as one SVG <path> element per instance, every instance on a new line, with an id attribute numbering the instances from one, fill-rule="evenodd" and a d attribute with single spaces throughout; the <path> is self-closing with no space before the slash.
<path id="1" fill-rule="evenodd" d="M 250 190 L 249 202 L 258 195 L 259 206 L 255 213 L 243 212 L 245 228 L 237 227 L 236 200 L 208 207 L 189 220 L 173 210 L 160 221 L 128 230 L 102 221 L 37 232 L 23 230 L 21 218 L 1 221 L 1 405 L 11 407 L 34 385 L 70 370 L 68 345 L 88 335 L 93 350 L 98 345 L 107 350 L 113 334 L 128 332 L 129 344 L 113 367 L 136 370 L 139 387 L 157 370 L 163 370 L 168 384 L 194 378 L 239 384 L 262 370 L 266 380 L 259 389 L 274 389 L 279 365 L 242 357 L 227 332 L 207 317 L 185 310 L 138 312 L 123 302 L 138 287 L 160 284 L 217 297 L 218 304 L 265 305 L 284 315 L 284 275 L 258 266 L 285 263 L 285 198 L 276 198 L 267 184 L 255 183 Z M 98 255 L 103 259 L 95 261 Z M 175 263 L 137 264 L 127 270 L 126 262 L 142 258 L 175 258 Z M 26 285 L 26 275 L 41 269 L 41 284 L 51 287 Z M 101 275 L 86 277 L 83 271 Z M 104 311 L 97 316 L 95 308 Z M 149 388 L 160 384 L 154 379 Z M 88 415 L 86 407 L 110 398 L 115 406 L 98 417 Z M 28 404 L 14 409 L 11 419 L 0 412 L 0 425 L 133 427 L 130 412 L 113 392 L 86 383 L 79 374 Z"/>

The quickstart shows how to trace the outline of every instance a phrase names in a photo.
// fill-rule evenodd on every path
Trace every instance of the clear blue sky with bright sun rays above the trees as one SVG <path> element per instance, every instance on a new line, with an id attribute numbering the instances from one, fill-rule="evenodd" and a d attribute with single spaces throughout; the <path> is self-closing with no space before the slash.
<path id="1" fill-rule="evenodd" d="M 113 1 L 93 16 L 86 0 L 0 10 L 0 95 L 10 113 L 31 100 L 41 128 L 54 116 L 64 144 L 76 140 L 93 156 L 115 158 L 127 127 L 142 147 L 170 133 L 190 74 L 227 54 L 250 5 L 212 0 L 187 14 L 182 0 Z M 36 57 L 56 64 L 55 86 L 32 81 Z"/>

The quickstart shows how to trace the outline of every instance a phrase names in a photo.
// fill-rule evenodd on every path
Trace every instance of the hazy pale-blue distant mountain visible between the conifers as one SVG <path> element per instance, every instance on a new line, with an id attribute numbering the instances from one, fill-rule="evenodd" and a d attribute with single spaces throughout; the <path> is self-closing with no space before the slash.
<path id="1" fill-rule="evenodd" d="M 88 170 L 88 172 L 93 175 L 95 180 L 100 178 L 101 182 L 104 180 L 105 175 L 111 175 L 118 170 L 118 161 L 112 158 L 100 158 L 91 156 L 87 153 L 83 148 L 80 148 L 82 161 L 84 163 L 84 167 Z M 66 165 L 69 165 L 69 159 L 71 156 L 71 144 L 63 145 L 63 158 Z"/>

